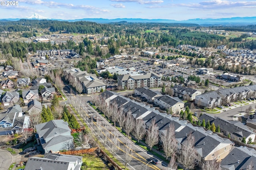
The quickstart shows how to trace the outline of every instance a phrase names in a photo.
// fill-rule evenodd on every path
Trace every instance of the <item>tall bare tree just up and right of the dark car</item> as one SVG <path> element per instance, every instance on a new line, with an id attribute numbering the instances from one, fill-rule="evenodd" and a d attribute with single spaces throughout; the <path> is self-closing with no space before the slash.
<path id="1" fill-rule="evenodd" d="M 176 146 L 176 140 L 174 135 L 175 135 L 174 125 L 171 124 L 170 127 L 168 127 L 167 129 L 166 135 L 164 137 L 161 137 L 162 147 L 163 147 L 166 159 L 168 159 L 168 157 L 172 156 L 176 152 L 177 146 Z"/>

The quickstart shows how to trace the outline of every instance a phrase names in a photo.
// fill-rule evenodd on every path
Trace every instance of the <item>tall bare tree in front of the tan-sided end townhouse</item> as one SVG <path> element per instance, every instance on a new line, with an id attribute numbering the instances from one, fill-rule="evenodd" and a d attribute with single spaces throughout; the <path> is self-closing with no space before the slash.
<path id="1" fill-rule="evenodd" d="M 190 133 L 187 136 L 187 139 L 182 143 L 180 154 L 177 160 L 184 166 L 185 169 L 194 169 L 194 155 L 194 137 Z"/>

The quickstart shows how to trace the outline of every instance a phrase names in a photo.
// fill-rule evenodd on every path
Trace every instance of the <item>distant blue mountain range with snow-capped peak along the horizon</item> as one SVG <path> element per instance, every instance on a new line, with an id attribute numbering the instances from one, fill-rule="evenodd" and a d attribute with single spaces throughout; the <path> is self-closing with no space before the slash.
<path id="1" fill-rule="evenodd" d="M 141 18 L 116 18 L 116 19 L 104 19 L 104 18 L 83 18 L 76 20 L 60 20 L 60 19 L 50 19 L 34 13 L 32 16 L 27 18 L 16 18 L 16 19 L 0 19 L 0 20 L 10 20 L 17 21 L 20 19 L 29 20 L 58 20 L 58 21 L 92 21 L 96 23 L 114 23 L 114 22 L 134 22 L 134 23 L 195 23 L 199 25 L 250 25 L 256 24 L 256 17 L 235 17 L 235 18 L 218 18 L 218 19 L 190 19 L 190 20 L 165 20 L 165 19 L 141 19 Z"/>

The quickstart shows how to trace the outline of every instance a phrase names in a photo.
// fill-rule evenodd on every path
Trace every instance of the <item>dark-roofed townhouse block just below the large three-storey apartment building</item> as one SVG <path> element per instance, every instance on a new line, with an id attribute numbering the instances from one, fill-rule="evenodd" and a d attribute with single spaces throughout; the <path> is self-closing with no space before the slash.
<path id="1" fill-rule="evenodd" d="M 145 98 L 148 102 L 154 102 L 154 98 L 162 96 L 160 92 L 150 90 L 147 87 L 136 88 L 134 90 L 134 94 L 137 96 L 141 96 L 142 98 Z"/>

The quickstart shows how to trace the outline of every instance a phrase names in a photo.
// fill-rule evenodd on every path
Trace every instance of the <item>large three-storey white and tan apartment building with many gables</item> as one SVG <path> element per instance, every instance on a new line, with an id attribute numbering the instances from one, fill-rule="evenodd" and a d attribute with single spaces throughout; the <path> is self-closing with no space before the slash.
<path id="1" fill-rule="evenodd" d="M 147 72 L 145 74 L 125 74 L 117 78 L 118 86 L 124 89 L 135 89 L 141 87 L 160 87 L 162 75 L 154 72 Z"/>

